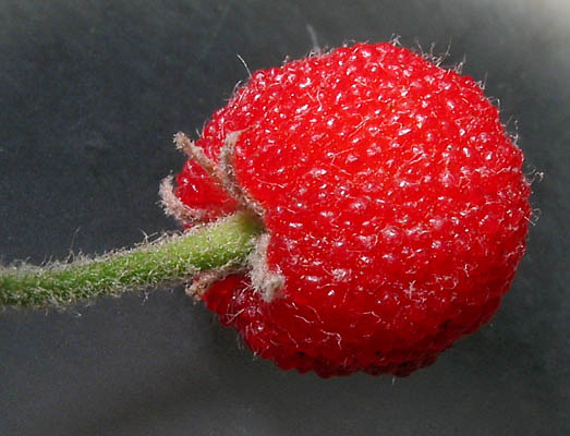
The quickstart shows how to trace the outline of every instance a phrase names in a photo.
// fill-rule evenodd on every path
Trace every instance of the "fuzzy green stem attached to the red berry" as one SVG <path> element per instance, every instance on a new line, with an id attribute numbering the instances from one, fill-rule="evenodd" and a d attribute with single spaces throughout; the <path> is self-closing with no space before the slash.
<path id="1" fill-rule="evenodd" d="M 0 305 L 63 306 L 100 295 L 175 284 L 201 271 L 243 264 L 263 226 L 247 213 L 71 264 L 0 268 Z"/>

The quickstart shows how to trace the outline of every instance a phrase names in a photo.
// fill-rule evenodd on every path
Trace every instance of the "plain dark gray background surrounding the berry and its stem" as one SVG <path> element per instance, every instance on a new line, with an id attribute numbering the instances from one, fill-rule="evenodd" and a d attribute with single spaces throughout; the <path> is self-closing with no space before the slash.
<path id="1" fill-rule="evenodd" d="M 542 218 L 493 323 L 409 378 L 319 379 L 255 360 L 182 289 L 0 312 L 1 435 L 562 435 L 569 427 L 570 4 L 560 1 L 0 2 L 2 262 L 173 229 L 178 130 L 248 68 L 313 43 L 448 49 L 517 128 Z"/>

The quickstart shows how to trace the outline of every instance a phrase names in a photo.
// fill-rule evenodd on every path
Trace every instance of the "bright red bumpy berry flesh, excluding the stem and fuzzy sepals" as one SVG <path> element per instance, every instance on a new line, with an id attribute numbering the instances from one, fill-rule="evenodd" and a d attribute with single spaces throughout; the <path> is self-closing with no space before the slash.
<path id="1" fill-rule="evenodd" d="M 203 298 L 255 354 L 403 376 L 496 311 L 524 252 L 530 184 L 472 78 L 357 44 L 254 73 L 196 145 L 218 162 L 232 132 L 237 182 L 264 210 L 284 284 L 266 301 L 244 272 Z M 219 216 L 238 207 L 189 164 L 182 202 L 204 207 L 210 192 Z"/>

